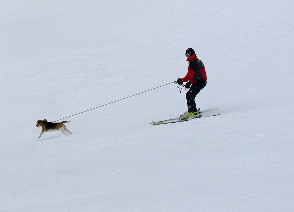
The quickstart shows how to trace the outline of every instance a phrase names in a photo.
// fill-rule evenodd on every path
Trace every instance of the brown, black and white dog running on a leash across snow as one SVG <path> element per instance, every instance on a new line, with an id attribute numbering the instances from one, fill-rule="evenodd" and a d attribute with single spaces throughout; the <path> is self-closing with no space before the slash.
<path id="1" fill-rule="evenodd" d="M 36 126 L 37 127 L 42 127 L 41 133 L 39 135 L 38 138 L 41 137 L 41 135 L 44 132 L 52 132 L 55 130 L 60 130 L 63 134 L 65 134 L 64 131 L 69 132 L 71 134 L 71 132 L 66 128 L 66 126 L 63 123 L 69 123 L 71 121 L 63 121 L 63 122 L 47 122 L 46 119 L 44 120 L 38 120 Z M 66 134 L 65 134 L 66 135 Z"/>

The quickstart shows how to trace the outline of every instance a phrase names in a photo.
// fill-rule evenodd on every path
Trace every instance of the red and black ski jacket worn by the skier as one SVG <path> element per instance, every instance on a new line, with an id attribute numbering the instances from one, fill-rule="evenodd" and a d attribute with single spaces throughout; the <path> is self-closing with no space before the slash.
<path id="1" fill-rule="evenodd" d="M 187 61 L 189 62 L 188 73 L 182 78 L 182 83 L 190 80 L 191 84 L 194 84 L 196 80 L 207 80 L 205 67 L 196 54 L 191 55 Z"/>

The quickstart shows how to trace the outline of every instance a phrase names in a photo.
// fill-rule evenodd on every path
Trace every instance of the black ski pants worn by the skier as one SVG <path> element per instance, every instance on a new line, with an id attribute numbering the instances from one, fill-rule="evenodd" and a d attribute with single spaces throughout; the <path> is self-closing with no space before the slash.
<path id="1" fill-rule="evenodd" d="M 191 85 L 190 89 L 186 93 L 188 112 L 197 111 L 195 97 L 199 93 L 199 91 L 201 91 L 201 89 L 206 86 L 206 82 L 206 80 L 197 80 L 196 83 Z"/>

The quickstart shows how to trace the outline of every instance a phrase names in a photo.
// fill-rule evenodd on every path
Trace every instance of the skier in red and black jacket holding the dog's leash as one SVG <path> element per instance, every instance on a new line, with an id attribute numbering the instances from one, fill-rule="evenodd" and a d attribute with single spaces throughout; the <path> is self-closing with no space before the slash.
<path id="1" fill-rule="evenodd" d="M 200 110 L 197 111 L 195 97 L 201 89 L 206 86 L 207 76 L 203 63 L 199 60 L 192 48 L 186 50 L 186 58 L 189 62 L 188 73 L 183 78 L 178 78 L 177 83 L 182 85 L 183 82 L 186 83 L 185 87 L 188 90 L 186 93 L 188 111 L 183 113 L 181 118 L 198 117 L 200 115 Z M 191 86 L 191 87 L 190 87 Z"/>

